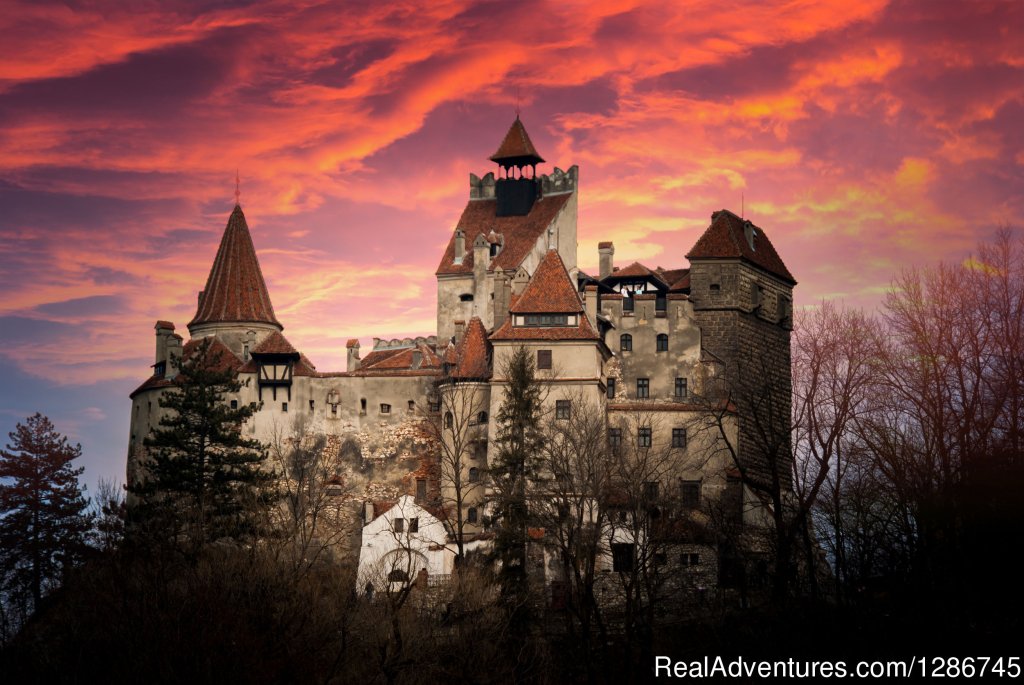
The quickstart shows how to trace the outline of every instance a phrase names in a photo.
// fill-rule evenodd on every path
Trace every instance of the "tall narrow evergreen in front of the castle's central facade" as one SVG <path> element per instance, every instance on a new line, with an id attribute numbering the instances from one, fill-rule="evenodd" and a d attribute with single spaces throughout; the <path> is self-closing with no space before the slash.
<path id="1" fill-rule="evenodd" d="M 519 648 L 529 626 L 527 610 L 526 543 L 529 506 L 527 488 L 537 476 L 544 434 L 541 429 L 543 393 L 534 377 L 534 357 L 518 347 L 504 365 L 508 380 L 505 398 L 498 412 L 495 464 L 490 468 L 494 486 L 495 546 L 501 562 L 499 581 L 502 599 L 509 611 L 511 643 Z M 517 656 L 517 675 L 523 665 Z"/>

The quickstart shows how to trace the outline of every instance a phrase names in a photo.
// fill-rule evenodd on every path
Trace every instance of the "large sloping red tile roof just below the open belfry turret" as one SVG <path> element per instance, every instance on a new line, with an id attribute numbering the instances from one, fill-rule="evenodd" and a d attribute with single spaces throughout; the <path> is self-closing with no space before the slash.
<path id="1" fill-rule="evenodd" d="M 571 194 L 561 194 L 541 198 L 534 203 L 529 214 L 525 216 L 498 216 L 497 200 L 470 200 L 466 204 L 466 209 L 459 217 L 456 230 L 465 231 L 466 236 L 487 234 L 492 230 L 501 233 L 504 239 L 504 247 L 496 257 L 490 260 L 487 268 L 514 270 L 519 267 L 522 260 L 526 258 L 529 251 L 537 245 L 539 238 L 544 236 L 548 226 L 554 221 L 558 213 L 568 203 Z M 473 250 L 471 245 L 467 246 L 466 255 L 462 264 L 455 263 L 455 230 L 449 240 L 441 263 L 437 266 L 437 274 L 447 273 L 472 273 L 473 272 Z"/>

